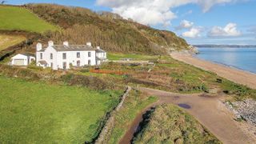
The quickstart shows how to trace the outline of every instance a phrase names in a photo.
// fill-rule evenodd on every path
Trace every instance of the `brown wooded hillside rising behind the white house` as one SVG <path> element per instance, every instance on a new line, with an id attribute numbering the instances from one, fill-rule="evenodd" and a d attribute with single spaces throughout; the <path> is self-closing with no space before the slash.
<path id="1" fill-rule="evenodd" d="M 188 47 L 186 41 L 173 32 L 155 30 L 122 19 L 118 14 L 97 14 L 85 8 L 50 4 L 29 4 L 25 7 L 39 18 L 62 27 L 61 32 L 46 35 L 57 43 L 85 44 L 90 41 L 108 51 L 146 54 L 166 54 L 166 50 Z"/>

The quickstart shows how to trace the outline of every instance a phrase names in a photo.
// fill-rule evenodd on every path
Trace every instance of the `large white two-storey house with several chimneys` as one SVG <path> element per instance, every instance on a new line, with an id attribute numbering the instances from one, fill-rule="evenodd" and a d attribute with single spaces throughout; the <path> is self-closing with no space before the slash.
<path id="1" fill-rule="evenodd" d="M 51 67 L 53 70 L 66 70 L 70 69 L 70 66 L 95 66 L 107 60 L 106 51 L 100 47 L 94 48 L 90 42 L 86 45 L 69 45 L 69 42 L 54 45 L 54 42 L 50 41 L 46 48 L 42 48 L 42 44 L 38 43 L 36 49 L 37 66 Z"/>

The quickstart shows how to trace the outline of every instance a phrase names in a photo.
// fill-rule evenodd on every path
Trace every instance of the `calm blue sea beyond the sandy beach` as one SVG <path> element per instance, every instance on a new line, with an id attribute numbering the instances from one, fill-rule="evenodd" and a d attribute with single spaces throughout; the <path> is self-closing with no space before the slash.
<path id="1" fill-rule="evenodd" d="M 198 48 L 195 57 L 256 74 L 255 48 Z"/>

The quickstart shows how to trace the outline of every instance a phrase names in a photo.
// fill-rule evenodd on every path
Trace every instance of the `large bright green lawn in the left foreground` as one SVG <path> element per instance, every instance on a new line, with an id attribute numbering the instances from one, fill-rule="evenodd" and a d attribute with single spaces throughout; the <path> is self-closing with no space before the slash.
<path id="1" fill-rule="evenodd" d="M 118 104 L 120 91 L 95 91 L 0 76 L 0 142 L 83 143 Z"/>

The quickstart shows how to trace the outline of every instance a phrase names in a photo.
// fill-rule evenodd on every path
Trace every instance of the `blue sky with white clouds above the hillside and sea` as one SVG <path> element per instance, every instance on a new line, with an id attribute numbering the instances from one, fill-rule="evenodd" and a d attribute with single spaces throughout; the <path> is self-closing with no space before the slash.
<path id="1" fill-rule="evenodd" d="M 172 30 L 190 44 L 256 45 L 255 0 L 7 0 L 9 4 L 58 3 L 106 10 Z"/>

